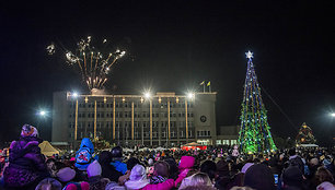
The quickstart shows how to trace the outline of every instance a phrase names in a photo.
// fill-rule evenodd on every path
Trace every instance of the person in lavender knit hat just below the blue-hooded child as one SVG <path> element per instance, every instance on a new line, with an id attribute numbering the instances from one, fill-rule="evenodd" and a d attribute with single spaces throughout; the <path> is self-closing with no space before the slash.
<path id="1" fill-rule="evenodd" d="M 90 190 L 104 190 L 111 180 L 108 178 L 102 178 L 102 168 L 97 161 L 91 163 L 88 168 L 88 177 L 90 183 Z"/>

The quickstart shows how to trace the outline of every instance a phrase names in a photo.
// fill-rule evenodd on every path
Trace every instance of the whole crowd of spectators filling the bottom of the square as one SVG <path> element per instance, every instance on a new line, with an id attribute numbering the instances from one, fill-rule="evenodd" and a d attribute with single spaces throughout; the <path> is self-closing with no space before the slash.
<path id="1" fill-rule="evenodd" d="M 94 150 L 81 141 L 73 157 L 46 157 L 38 131 L 24 124 L 0 159 L 0 189 L 26 190 L 334 190 L 332 149 L 240 154 L 236 149 Z"/>

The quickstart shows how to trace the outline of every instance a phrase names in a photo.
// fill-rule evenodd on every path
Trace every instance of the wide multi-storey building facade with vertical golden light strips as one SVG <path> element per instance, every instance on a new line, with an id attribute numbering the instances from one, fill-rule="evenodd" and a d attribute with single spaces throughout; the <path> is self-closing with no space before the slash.
<path id="1" fill-rule="evenodd" d="M 216 144 L 216 93 L 54 93 L 53 142 L 99 138 L 120 145 Z"/>

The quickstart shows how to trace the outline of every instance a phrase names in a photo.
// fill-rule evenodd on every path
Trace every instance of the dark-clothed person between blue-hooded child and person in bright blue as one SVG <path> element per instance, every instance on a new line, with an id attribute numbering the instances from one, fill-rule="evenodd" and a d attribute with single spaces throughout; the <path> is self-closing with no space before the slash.
<path id="1" fill-rule="evenodd" d="M 118 178 L 123 175 L 120 171 L 117 171 L 114 166 L 111 165 L 112 153 L 109 151 L 103 151 L 99 155 L 99 164 L 102 167 L 101 176 L 103 178 L 108 178 L 111 181 L 118 181 Z"/>

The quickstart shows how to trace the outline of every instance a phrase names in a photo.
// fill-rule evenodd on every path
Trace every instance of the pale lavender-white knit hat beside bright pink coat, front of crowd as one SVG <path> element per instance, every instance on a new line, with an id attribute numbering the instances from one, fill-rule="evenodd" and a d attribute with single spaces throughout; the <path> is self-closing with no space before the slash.
<path id="1" fill-rule="evenodd" d="M 150 182 L 147 179 L 146 168 L 142 165 L 136 165 L 130 171 L 129 180 L 125 183 L 127 189 L 141 189 Z"/>

